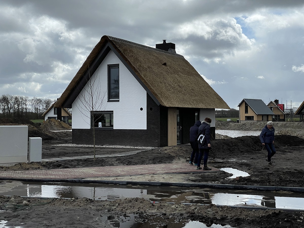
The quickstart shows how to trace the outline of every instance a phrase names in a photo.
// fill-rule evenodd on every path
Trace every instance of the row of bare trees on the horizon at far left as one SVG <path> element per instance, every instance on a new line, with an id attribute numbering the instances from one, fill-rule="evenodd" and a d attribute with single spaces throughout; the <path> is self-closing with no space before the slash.
<path id="1" fill-rule="evenodd" d="M 43 119 L 42 114 L 56 101 L 49 98 L 5 94 L 0 97 L 0 117 Z"/>

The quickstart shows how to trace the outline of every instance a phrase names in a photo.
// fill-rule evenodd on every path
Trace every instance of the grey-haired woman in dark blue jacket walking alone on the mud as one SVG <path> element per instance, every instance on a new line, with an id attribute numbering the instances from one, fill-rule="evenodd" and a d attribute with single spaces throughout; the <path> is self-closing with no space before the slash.
<path id="1" fill-rule="evenodd" d="M 275 143 L 275 128 L 272 126 L 272 121 L 268 121 L 267 125 L 262 129 L 260 134 L 260 140 L 263 146 L 265 146 L 268 156 L 266 158 L 266 161 L 268 161 L 269 165 L 272 165 L 271 163 L 271 157 L 275 155 L 275 146 L 273 145 Z"/>

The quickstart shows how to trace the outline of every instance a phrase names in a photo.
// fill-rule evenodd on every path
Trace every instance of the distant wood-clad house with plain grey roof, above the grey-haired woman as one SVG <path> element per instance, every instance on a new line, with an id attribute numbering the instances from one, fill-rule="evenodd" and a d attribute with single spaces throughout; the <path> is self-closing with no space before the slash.
<path id="1" fill-rule="evenodd" d="M 261 99 L 243 99 L 239 107 L 241 121 L 269 121 L 275 115 Z"/>

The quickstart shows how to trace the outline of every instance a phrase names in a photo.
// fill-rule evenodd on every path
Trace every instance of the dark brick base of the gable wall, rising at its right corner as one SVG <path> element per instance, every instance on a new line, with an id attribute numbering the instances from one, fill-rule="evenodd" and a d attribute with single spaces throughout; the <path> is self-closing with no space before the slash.
<path id="1" fill-rule="evenodd" d="M 147 94 L 147 130 L 95 129 L 95 143 L 96 145 L 161 147 L 164 142 L 161 143 L 160 126 L 160 107 Z M 93 144 L 93 130 L 73 129 L 72 143 Z"/>

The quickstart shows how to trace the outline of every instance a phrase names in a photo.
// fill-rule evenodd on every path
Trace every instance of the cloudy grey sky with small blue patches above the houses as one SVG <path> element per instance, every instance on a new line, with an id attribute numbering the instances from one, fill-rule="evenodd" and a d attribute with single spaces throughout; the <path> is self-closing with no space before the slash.
<path id="1" fill-rule="evenodd" d="M 0 95 L 59 98 L 103 35 L 175 43 L 230 108 L 304 100 L 303 0 L 1 0 Z"/>

